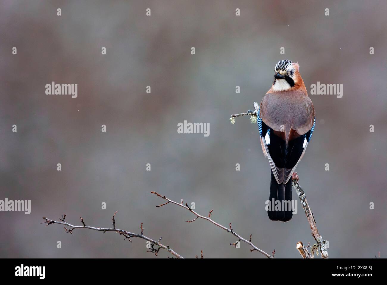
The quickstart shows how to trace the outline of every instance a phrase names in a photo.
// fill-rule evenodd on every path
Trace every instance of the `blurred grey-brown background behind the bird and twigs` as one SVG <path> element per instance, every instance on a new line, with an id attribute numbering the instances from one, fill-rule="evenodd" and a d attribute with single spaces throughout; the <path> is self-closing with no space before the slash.
<path id="1" fill-rule="evenodd" d="M 0 212 L 0 257 L 156 258 L 142 239 L 39 224 L 66 213 L 111 227 L 117 210 L 118 228 L 142 222 L 184 257 L 265 258 L 207 221 L 186 223 L 194 216 L 178 206 L 156 208 L 157 191 L 214 209 L 275 257 L 301 258 L 296 243 L 314 240 L 300 202 L 288 223 L 269 220 L 257 125 L 229 122 L 262 100 L 281 59 L 299 62 L 308 93 L 317 81 L 343 85 L 342 98 L 310 95 L 316 127 L 297 168 L 329 257 L 385 257 L 386 12 L 384 0 L 1 0 L 0 199 L 31 200 L 31 214 Z M 77 83 L 78 97 L 46 95 L 52 81 Z M 210 135 L 177 133 L 184 120 L 209 123 Z"/>

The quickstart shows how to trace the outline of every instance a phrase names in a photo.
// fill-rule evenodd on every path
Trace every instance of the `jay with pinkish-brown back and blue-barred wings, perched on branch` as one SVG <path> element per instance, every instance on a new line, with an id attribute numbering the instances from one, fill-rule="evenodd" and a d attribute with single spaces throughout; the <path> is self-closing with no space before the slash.
<path id="1" fill-rule="evenodd" d="M 295 169 L 315 128 L 315 110 L 299 69 L 298 62 L 280 60 L 273 85 L 260 106 L 255 103 L 262 151 L 271 166 L 269 201 L 281 202 L 267 211 L 273 221 L 287 222 L 293 216 L 291 180 L 298 178 Z"/>

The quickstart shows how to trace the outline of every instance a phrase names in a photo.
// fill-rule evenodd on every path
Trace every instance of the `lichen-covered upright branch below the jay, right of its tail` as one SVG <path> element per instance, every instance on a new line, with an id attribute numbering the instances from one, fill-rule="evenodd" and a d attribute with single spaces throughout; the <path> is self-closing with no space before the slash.
<path id="1" fill-rule="evenodd" d="M 317 245 L 319 246 L 319 249 L 320 249 L 320 252 L 321 252 L 321 258 L 328 258 L 328 251 L 327 251 L 327 244 L 326 244 L 327 241 L 324 240 L 321 237 L 321 235 L 319 233 L 319 230 L 317 230 L 316 221 L 315 221 L 315 219 L 313 217 L 312 210 L 309 207 L 307 198 L 305 196 L 305 192 L 301 188 L 300 184 L 298 183 L 298 175 L 297 175 L 297 173 L 293 174 L 292 185 L 293 185 L 293 187 L 296 190 L 298 198 L 301 201 L 302 207 L 304 208 L 305 215 L 307 216 L 307 219 L 308 219 L 308 222 L 309 222 L 309 225 L 310 225 L 310 229 L 312 230 L 312 236 L 316 240 Z"/>

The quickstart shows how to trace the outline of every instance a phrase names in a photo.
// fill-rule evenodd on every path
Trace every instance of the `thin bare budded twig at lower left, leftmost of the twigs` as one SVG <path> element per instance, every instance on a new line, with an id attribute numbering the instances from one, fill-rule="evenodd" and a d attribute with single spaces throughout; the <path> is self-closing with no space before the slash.
<path id="1" fill-rule="evenodd" d="M 117 211 L 115 212 L 112 220 L 113 220 L 113 228 L 96 228 L 96 227 L 93 227 L 93 226 L 86 226 L 83 219 L 81 218 L 81 222 L 83 224 L 83 226 L 74 226 L 74 225 L 71 225 L 67 222 L 64 221 L 66 215 L 63 215 L 62 216 L 62 219 L 60 219 L 61 221 L 55 221 L 55 220 L 52 220 L 52 219 L 48 219 L 48 218 L 45 218 L 43 217 L 43 219 L 45 219 L 45 222 L 41 223 L 41 224 L 46 224 L 46 226 L 48 225 L 51 225 L 51 224 L 60 224 L 60 225 L 65 225 L 65 226 L 69 226 L 71 227 L 71 229 L 68 229 L 68 228 L 65 228 L 66 232 L 67 233 L 72 233 L 73 230 L 75 229 L 89 229 L 89 230 L 94 230 L 94 231 L 103 231 L 103 233 L 105 233 L 106 231 L 116 231 L 117 233 L 119 233 L 120 235 L 123 235 L 125 237 L 125 240 L 128 238 L 130 242 L 132 242 L 130 240 L 131 237 L 139 237 L 139 238 L 142 238 L 144 240 L 147 240 L 149 242 L 151 242 L 151 251 L 147 251 L 147 252 L 153 252 L 155 253 L 155 255 L 157 256 L 158 252 L 160 249 L 165 249 L 166 251 L 170 252 L 171 254 L 173 254 L 174 256 L 176 256 L 176 258 L 183 258 L 180 254 L 178 254 L 177 252 L 173 251 L 169 245 L 165 246 L 163 244 L 160 243 L 160 240 L 152 240 L 151 238 L 149 237 L 146 237 L 144 236 L 142 233 L 144 231 L 144 228 L 142 227 L 142 223 L 141 223 L 141 234 L 138 234 L 138 233 L 131 233 L 130 231 L 125 231 L 125 230 L 120 230 L 118 228 L 116 228 L 116 225 L 115 225 L 115 215 L 116 215 Z M 158 249 L 155 249 L 153 246 L 154 245 L 158 245 L 159 248 Z"/>

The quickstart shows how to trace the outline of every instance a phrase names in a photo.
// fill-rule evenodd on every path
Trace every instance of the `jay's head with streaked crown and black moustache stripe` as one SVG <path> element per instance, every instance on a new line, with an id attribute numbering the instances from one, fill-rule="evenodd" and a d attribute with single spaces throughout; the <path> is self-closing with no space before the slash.
<path id="1" fill-rule="evenodd" d="M 298 69 L 300 69 L 298 62 L 288 59 L 279 61 L 274 69 L 272 90 L 279 92 L 305 86 Z"/>

